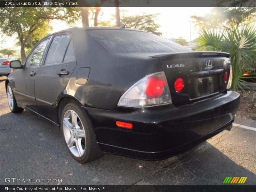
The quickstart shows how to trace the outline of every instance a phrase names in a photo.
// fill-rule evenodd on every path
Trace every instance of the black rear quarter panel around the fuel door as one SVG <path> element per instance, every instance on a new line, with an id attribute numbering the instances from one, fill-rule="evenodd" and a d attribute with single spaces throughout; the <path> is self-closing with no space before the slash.
<path id="1" fill-rule="evenodd" d="M 144 76 L 163 71 L 155 58 L 130 57 L 106 51 L 86 31 L 74 36 L 77 65 L 61 97 L 71 95 L 84 106 L 115 110 L 122 94 Z M 90 68 L 86 84 L 76 84 L 79 68 Z"/>

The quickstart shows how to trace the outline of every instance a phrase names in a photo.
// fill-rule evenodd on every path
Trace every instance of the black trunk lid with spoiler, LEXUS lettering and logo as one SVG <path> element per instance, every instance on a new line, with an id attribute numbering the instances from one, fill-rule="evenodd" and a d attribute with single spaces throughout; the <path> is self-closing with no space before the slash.
<path id="1" fill-rule="evenodd" d="M 161 61 L 175 106 L 193 103 L 226 91 L 228 82 L 223 77 L 226 72 L 229 76 L 228 53 L 180 52 L 150 58 Z M 180 92 L 175 91 L 174 87 L 177 78 L 184 81 L 184 88 Z"/>

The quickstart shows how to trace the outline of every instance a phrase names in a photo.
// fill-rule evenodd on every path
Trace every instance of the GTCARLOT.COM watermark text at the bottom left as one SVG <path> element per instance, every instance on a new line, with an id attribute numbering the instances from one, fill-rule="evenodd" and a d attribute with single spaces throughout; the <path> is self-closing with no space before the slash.
<path id="1" fill-rule="evenodd" d="M 16 177 L 6 177 L 6 183 L 62 183 L 62 179 L 21 179 Z"/>

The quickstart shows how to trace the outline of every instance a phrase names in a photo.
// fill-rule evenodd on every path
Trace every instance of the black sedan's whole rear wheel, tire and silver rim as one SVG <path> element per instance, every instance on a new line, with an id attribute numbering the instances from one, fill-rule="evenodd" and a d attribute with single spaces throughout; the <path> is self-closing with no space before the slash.
<path id="1" fill-rule="evenodd" d="M 92 123 L 84 108 L 78 103 L 68 103 L 61 115 L 61 131 L 71 156 L 79 163 L 98 159 L 98 148 Z"/>

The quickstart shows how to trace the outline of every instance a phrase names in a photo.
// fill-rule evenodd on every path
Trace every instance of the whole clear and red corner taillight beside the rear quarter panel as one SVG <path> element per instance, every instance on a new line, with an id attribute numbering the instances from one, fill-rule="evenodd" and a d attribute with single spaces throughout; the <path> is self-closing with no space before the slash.
<path id="1" fill-rule="evenodd" d="M 150 74 L 130 87 L 120 98 L 118 106 L 150 107 L 172 103 L 164 72 Z"/>

